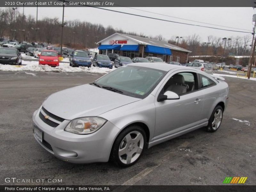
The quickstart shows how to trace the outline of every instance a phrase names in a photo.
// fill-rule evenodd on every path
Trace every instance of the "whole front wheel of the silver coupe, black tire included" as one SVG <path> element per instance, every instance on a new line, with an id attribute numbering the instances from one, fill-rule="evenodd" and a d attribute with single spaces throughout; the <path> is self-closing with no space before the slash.
<path id="1" fill-rule="evenodd" d="M 145 146 L 145 131 L 140 126 L 130 126 L 117 136 L 111 150 L 110 160 L 118 166 L 131 166 L 140 159 Z"/>

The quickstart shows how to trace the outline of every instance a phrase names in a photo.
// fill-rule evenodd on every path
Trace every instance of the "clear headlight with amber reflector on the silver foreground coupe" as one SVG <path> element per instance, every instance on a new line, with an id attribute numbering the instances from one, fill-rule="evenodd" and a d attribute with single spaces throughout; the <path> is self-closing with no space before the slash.
<path id="1" fill-rule="evenodd" d="M 101 117 L 81 117 L 70 121 L 64 131 L 76 134 L 90 134 L 99 130 L 106 122 L 107 120 Z"/>

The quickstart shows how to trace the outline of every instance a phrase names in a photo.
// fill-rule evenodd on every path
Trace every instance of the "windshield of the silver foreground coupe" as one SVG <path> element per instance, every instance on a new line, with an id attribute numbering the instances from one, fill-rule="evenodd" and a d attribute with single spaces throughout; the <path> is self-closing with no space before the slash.
<path id="1" fill-rule="evenodd" d="M 94 83 L 110 91 L 143 99 L 153 91 L 166 73 L 166 71 L 146 67 L 124 66 Z"/>

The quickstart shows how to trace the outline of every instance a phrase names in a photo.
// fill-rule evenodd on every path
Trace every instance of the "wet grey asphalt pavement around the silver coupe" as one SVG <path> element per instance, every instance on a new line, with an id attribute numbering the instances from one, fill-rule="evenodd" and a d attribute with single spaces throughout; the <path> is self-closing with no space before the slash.
<path id="1" fill-rule="evenodd" d="M 229 104 L 217 132 L 199 129 L 156 145 L 132 167 L 70 164 L 49 154 L 34 139 L 33 112 L 49 94 L 90 83 L 100 76 L 0 72 L 1 185 L 13 184 L 5 183 L 6 177 L 62 179 L 61 184 L 65 185 L 221 185 L 228 176 L 248 177 L 245 184 L 256 184 L 256 83 L 245 79 L 225 77 L 230 89 Z"/>

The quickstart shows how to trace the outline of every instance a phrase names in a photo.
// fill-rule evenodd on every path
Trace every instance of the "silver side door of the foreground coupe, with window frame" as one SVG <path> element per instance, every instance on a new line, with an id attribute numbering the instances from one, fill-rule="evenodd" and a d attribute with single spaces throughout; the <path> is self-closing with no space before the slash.
<path id="1" fill-rule="evenodd" d="M 159 94 L 164 94 L 170 86 L 176 85 L 174 76 L 183 76 L 186 92 L 179 94 L 178 100 L 158 102 Z M 172 89 L 171 89 L 172 91 Z M 173 91 L 175 92 L 175 91 Z M 178 94 L 178 93 L 177 93 Z M 198 90 L 198 74 L 195 70 L 172 72 L 158 90 L 155 99 L 156 127 L 154 140 L 167 137 L 202 124 L 204 91 Z"/>

